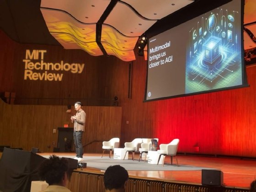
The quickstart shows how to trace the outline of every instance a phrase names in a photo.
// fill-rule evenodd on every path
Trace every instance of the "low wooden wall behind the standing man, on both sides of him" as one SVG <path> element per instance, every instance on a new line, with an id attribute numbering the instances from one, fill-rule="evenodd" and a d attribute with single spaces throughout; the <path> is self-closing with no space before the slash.
<path id="1" fill-rule="evenodd" d="M 24 150 L 34 147 L 41 152 L 51 152 L 57 147 L 58 127 L 63 127 L 71 116 L 66 106 L 8 105 L 0 100 L 0 109 L 0 144 Z M 86 106 L 85 112 L 84 143 L 101 141 L 86 146 L 85 151 L 100 153 L 102 140 L 120 137 L 122 107 Z"/>

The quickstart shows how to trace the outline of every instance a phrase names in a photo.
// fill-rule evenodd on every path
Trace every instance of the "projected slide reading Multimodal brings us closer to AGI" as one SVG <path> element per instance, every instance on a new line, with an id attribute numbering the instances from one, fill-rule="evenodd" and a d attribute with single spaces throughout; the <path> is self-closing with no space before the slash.
<path id="1" fill-rule="evenodd" d="M 148 41 L 145 101 L 243 85 L 241 0 Z"/>

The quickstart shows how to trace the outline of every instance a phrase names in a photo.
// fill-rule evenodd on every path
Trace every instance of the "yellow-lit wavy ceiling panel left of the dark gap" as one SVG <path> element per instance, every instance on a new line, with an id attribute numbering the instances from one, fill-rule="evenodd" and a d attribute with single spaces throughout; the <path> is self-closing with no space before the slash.
<path id="1" fill-rule="evenodd" d="M 49 32 L 65 49 L 82 49 L 93 56 L 103 55 L 96 43 L 95 23 L 81 23 L 64 11 L 41 8 L 41 12 Z"/>

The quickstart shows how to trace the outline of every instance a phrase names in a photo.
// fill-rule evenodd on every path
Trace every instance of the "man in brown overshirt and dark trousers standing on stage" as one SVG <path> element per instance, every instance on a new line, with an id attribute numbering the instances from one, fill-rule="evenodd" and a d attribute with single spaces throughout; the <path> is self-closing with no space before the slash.
<path id="1" fill-rule="evenodd" d="M 74 159 L 78 161 L 83 160 L 83 144 L 82 136 L 85 131 L 85 111 L 81 108 L 81 102 L 77 101 L 75 103 L 76 114 L 71 117 L 72 123 L 74 122 L 74 141 L 75 141 L 75 152 L 76 157 Z"/>

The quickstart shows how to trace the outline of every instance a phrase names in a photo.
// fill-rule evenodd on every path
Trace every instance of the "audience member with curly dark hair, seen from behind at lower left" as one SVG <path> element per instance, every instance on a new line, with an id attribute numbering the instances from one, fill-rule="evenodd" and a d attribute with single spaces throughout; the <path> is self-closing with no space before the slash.
<path id="1" fill-rule="evenodd" d="M 52 155 L 42 162 L 39 167 L 39 176 L 49 186 L 44 192 L 71 192 L 66 186 L 68 179 L 68 160 Z"/>

